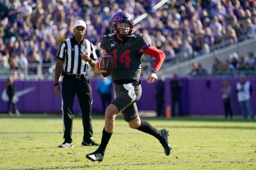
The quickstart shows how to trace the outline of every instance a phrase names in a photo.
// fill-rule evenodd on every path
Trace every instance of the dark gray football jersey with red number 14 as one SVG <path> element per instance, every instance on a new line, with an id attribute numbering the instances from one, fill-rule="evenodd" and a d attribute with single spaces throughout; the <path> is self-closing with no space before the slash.
<path id="1" fill-rule="evenodd" d="M 123 42 L 120 42 L 115 34 L 104 35 L 101 48 L 114 56 L 112 80 L 139 79 L 142 57 L 140 51 L 150 46 L 151 41 L 146 34 L 133 34 Z"/>

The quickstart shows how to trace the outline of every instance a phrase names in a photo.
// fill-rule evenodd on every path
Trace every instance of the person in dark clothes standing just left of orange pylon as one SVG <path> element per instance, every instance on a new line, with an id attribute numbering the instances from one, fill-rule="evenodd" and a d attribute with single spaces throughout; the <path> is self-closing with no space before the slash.
<path id="1" fill-rule="evenodd" d="M 159 81 L 156 84 L 155 90 L 155 99 L 156 99 L 156 113 L 157 116 L 163 116 L 163 108 L 164 108 L 164 82 L 165 77 L 163 75 L 159 76 Z"/>

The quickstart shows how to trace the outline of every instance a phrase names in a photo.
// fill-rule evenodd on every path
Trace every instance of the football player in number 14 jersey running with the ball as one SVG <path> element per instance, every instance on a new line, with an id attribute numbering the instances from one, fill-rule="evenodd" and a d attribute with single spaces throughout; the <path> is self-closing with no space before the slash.
<path id="1" fill-rule="evenodd" d="M 171 152 L 168 131 L 166 129 L 158 130 L 147 121 L 141 120 L 136 105 L 136 101 L 142 94 L 139 80 L 142 54 L 155 57 L 155 65 L 147 77 L 148 83 L 157 80 L 157 74 L 165 54 L 151 46 L 150 38 L 146 34 L 133 34 L 134 22 L 129 13 L 118 12 L 112 18 L 111 25 L 114 34 L 103 37 L 101 48 L 104 51 L 99 61 L 106 53 L 113 53 L 114 71 L 111 73 L 111 77 L 114 82 L 116 98 L 105 111 L 105 126 L 102 131 L 101 144 L 95 152 L 87 154 L 86 158 L 99 162 L 103 160 L 107 144 L 114 131 L 115 117 L 120 112 L 123 113 L 124 120 L 128 122 L 130 128 L 138 129 L 157 138 L 168 156 Z M 96 71 L 99 72 L 99 64 L 97 67 Z"/>

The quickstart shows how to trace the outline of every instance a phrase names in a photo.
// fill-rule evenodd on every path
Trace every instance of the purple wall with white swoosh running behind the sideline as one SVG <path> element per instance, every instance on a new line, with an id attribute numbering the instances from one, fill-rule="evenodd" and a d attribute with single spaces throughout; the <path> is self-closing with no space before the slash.
<path id="1" fill-rule="evenodd" d="M 196 115 L 220 115 L 224 114 L 224 105 L 221 98 L 221 78 L 190 79 L 181 78 L 182 104 L 185 114 Z M 256 79 L 248 79 L 254 89 L 251 96 L 251 106 L 256 113 Z M 91 79 L 93 91 L 93 112 L 101 112 L 101 98 L 97 93 L 96 86 L 100 79 Z M 238 79 L 228 79 L 231 85 L 231 107 L 234 114 L 240 114 L 241 109 L 237 101 L 236 83 Z M 171 105 L 171 79 L 165 81 L 165 107 Z M 16 96 L 18 97 L 17 107 L 21 113 L 61 113 L 61 96 L 54 93 L 53 81 L 15 81 Z M 138 110 L 156 110 L 155 99 L 156 83 L 147 83 L 142 80 L 142 96 L 137 102 Z M 0 81 L 0 113 L 7 112 L 8 97 L 5 93 L 5 81 Z M 79 103 L 75 97 L 74 112 L 79 110 Z M 176 111 L 178 113 L 178 110 Z"/>

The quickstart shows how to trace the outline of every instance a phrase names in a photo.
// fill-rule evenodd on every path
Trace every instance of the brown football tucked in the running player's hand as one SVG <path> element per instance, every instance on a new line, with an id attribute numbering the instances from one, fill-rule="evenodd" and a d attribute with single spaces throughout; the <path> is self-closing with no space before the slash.
<path id="1" fill-rule="evenodd" d="M 103 77 L 108 77 L 114 70 L 114 57 L 112 53 L 106 53 L 100 61 L 100 71 Z"/>

